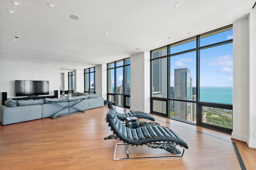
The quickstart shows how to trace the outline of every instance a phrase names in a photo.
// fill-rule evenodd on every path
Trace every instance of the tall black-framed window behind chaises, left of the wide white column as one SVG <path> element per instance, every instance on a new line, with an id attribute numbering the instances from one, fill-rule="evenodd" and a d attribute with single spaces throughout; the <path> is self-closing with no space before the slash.
<path id="1" fill-rule="evenodd" d="M 130 108 L 130 58 L 107 64 L 108 101 Z"/>

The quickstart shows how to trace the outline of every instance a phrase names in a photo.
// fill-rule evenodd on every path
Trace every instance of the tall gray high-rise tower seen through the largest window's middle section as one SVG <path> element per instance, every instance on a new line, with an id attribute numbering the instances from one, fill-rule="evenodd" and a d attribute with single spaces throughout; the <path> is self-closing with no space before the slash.
<path id="1" fill-rule="evenodd" d="M 174 69 L 174 98 L 180 100 L 192 100 L 192 78 L 190 77 L 190 69 Z M 192 121 L 191 113 L 192 106 L 190 102 L 175 102 L 175 118 Z"/>

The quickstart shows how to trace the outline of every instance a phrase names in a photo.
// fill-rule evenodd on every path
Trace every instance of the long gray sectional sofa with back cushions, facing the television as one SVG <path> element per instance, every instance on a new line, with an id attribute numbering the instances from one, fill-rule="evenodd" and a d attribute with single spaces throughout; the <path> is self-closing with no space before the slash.
<path id="1" fill-rule="evenodd" d="M 84 98 L 80 103 L 74 107 L 80 110 L 88 110 L 96 107 L 104 106 L 104 98 L 98 97 L 98 94 L 74 94 L 72 99 Z M 63 100 L 57 104 L 53 104 L 51 101 Z M 0 122 L 2 125 L 8 125 L 12 123 L 19 123 L 23 121 L 30 121 L 35 119 L 42 119 L 50 117 L 63 107 L 72 106 L 76 101 L 65 101 L 66 98 L 45 98 L 38 100 L 14 100 L 7 99 L 5 105 L 0 106 Z M 59 106 L 61 105 L 61 106 Z M 65 108 L 61 114 L 76 112 L 77 109 L 72 107 Z"/>

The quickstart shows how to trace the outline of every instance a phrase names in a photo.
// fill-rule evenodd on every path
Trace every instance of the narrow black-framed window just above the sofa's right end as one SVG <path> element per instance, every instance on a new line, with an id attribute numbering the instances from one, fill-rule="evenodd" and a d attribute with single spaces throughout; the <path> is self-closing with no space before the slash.
<path id="1" fill-rule="evenodd" d="M 84 69 L 84 92 L 95 93 L 95 67 Z"/>

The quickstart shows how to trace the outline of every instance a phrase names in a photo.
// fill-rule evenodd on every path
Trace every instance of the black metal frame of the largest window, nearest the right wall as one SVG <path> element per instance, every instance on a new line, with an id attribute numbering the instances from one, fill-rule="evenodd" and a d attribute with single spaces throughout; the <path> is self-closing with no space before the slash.
<path id="1" fill-rule="evenodd" d="M 174 99 L 174 98 L 170 98 L 170 92 L 169 92 L 169 88 L 166 89 L 167 91 L 167 98 L 159 98 L 159 97 L 153 97 L 152 93 L 150 93 L 150 110 L 151 113 L 156 114 L 156 115 L 160 115 L 160 116 L 164 116 L 164 117 L 168 117 L 170 119 L 175 119 L 178 121 L 183 121 L 186 123 L 190 123 L 190 124 L 194 124 L 194 125 L 198 125 L 198 126 L 202 126 L 202 127 L 206 127 L 209 129 L 214 129 L 217 131 L 222 131 L 225 133 L 232 133 L 232 129 L 226 128 L 226 127 L 220 127 L 220 126 L 216 126 L 216 125 L 211 125 L 208 123 L 204 123 L 202 122 L 202 107 L 206 106 L 206 107 L 215 107 L 215 108 L 222 108 L 222 109 L 233 109 L 233 105 L 232 104 L 218 104 L 218 103 L 211 103 L 211 102 L 200 102 L 200 50 L 202 49 L 207 49 L 207 48 L 211 48 L 211 47 L 215 47 L 215 46 L 219 46 L 219 45 L 224 45 L 224 44 L 228 44 L 228 43 L 233 43 L 233 39 L 229 39 L 229 40 L 225 40 L 225 41 L 220 41 L 218 43 L 212 43 L 209 45 L 205 45 L 200 47 L 200 36 L 206 36 L 206 35 L 210 35 L 212 33 L 216 33 L 216 32 L 222 32 L 223 30 L 228 30 L 228 29 L 233 29 L 233 25 L 227 25 L 225 27 L 219 28 L 219 29 L 215 29 L 213 31 L 209 31 L 207 33 L 203 33 L 176 43 L 172 43 L 170 45 L 166 45 L 163 47 L 160 47 L 158 49 L 154 49 L 152 51 L 150 51 L 150 91 L 152 92 L 152 61 L 155 60 L 159 60 L 159 59 L 163 59 L 163 58 L 167 58 L 167 87 L 170 87 L 170 57 L 172 56 L 176 56 L 176 55 L 180 55 L 183 53 L 189 53 L 192 51 L 196 51 L 196 101 L 193 100 L 178 100 L 178 99 Z M 170 54 L 169 50 L 170 47 L 173 45 L 177 45 L 177 44 L 182 44 L 186 41 L 190 41 L 192 39 L 196 39 L 196 47 L 193 49 L 189 49 L 189 50 L 185 50 L 185 51 L 180 51 L 178 53 L 174 53 L 174 54 Z M 167 48 L 167 55 L 163 55 L 160 57 L 153 57 L 152 56 L 152 52 L 160 50 L 160 49 L 165 49 Z M 153 110 L 153 101 L 161 101 L 161 102 L 166 102 L 166 113 L 160 113 L 157 111 Z M 190 121 L 184 121 L 181 119 L 176 119 L 174 117 L 170 117 L 170 101 L 180 101 L 180 102 L 190 102 L 190 103 L 194 103 L 196 104 L 196 123 L 194 122 L 190 122 Z"/>

